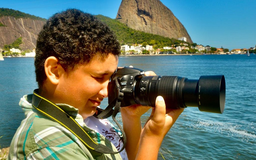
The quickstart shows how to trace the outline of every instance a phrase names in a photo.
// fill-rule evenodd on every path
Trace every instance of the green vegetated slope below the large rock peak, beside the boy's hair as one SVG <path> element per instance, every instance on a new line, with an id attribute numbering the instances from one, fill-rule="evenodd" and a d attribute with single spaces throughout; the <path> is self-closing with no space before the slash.
<path id="1" fill-rule="evenodd" d="M 174 38 L 167 38 L 159 35 L 137 31 L 127 27 L 125 24 L 116 19 L 111 19 L 103 15 L 96 15 L 98 19 L 106 23 L 116 34 L 121 45 L 123 44 L 142 44 L 154 45 L 154 48 L 163 48 L 164 46 L 172 46 L 184 43 Z M 185 42 L 186 43 L 186 42 Z M 189 43 L 188 43 L 189 44 Z"/>

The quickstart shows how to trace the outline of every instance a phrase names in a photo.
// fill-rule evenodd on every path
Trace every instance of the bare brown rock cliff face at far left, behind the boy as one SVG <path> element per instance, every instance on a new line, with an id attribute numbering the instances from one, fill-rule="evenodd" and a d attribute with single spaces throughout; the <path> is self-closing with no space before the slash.
<path id="1" fill-rule="evenodd" d="M 0 27 L 0 48 L 5 44 L 12 44 L 17 38 L 22 37 L 22 50 L 36 47 L 37 35 L 44 25 L 44 21 L 29 18 L 16 19 L 10 16 L 0 17 L 0 22 L 6 27 Z"/>

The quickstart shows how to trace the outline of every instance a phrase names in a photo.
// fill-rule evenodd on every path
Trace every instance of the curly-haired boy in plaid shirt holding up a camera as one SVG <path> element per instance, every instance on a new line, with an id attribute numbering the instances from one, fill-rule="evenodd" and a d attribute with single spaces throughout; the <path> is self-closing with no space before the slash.
<path id="1" fill-rule="evenodd" d="M 123 146 L 117 132 L 107 120 L 92 115 L 108 96 L 108 82 L 116 71 L 119 53 L 120 45 L 105 24 L 90 14 L 69 9 L 46 22 L 38 35 L 35 57 L 36 92 L 72 116 L 92 140 L 115 151 Z M 148 107 L 121 108 L 125 150 L 102 154 L 88 149 L 72 132 L 37 111 L 32 101 L 32 94 L 20 100 L 26 118 L 13 137 L 9 159 L 157 159 L 165 134 L 183 111 L 165 110 L 163 98 L 158 97 L 142 128 L 140 116 Z M 110 132 L 112 137 L 107 135 Z"/>

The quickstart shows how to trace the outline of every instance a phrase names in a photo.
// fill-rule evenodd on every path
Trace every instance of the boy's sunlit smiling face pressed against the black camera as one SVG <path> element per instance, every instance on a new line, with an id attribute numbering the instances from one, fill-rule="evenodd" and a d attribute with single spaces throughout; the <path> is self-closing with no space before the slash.
<path id="1" fill-rule="evenodd" d="M 62 92 L 61 103 L 79 109 L 84 119 L 92 116 L 103 98 L 108 96 L 108 82 L 117 64 L 116 55 L 109 54 L 103 60 L 96 55 L 88 64 L 78 64 L 74 70 L 65 72 L 56 88 Z"/>

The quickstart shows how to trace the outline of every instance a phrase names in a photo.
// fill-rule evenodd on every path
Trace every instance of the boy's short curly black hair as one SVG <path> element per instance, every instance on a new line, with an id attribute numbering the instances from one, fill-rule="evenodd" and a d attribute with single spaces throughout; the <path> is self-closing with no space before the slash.
<path id="1" fill-rule="evenodd" d="M 39 88 L 46 80 L 44 62 L 54 56 L 65 71 L 86 64 L 95 55 L 118 55 L 120 44 L 108 26 L 89 13 L 68 9 L 54 14 L 36 41 L 35 72 Z"/>

